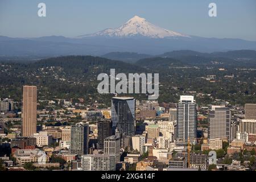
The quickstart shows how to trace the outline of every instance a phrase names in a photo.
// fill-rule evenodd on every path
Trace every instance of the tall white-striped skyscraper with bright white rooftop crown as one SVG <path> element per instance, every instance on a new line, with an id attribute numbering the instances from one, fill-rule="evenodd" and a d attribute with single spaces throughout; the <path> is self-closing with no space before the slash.
<path id="1" fill-rule="evenodd" d="M 196 142 L 197 138 L 197 105 L 193 96 L 180 96 L 177 105 L 177 140 Z"/>

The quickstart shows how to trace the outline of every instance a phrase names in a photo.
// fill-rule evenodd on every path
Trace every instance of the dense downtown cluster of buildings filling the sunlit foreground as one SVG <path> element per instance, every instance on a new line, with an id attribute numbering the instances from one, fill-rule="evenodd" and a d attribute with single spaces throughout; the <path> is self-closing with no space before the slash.
<path id="1" fill-rule="evenodd" d="M 36 86 L 25 85 L 24 96 L 27 97 L 27 92 L 32 93 L 33 90 L 29 90 L 32 88 Z M 23 100 L 24 106 L 35 105 L 32 102 L 27 104 L 29 99 L 26 97 Z M 42 100 L 37 97 L 35 99 L 36 105 L 40 105 Z M 5 101 L 13 103 L 11 99 Z M 132 102 L 129 104 L 128 101 Z M 48 110 L 48 114 L 44 113 L 45 109 L 37 110 L 36 120 L 39 125 L 36 125 L 36 133 L 29 137 L 24 135 L 20 137 L 18 130 L 6 135 L 10 139 L 11 152 L 16 162 L 26 169 L 27 163 L 30 162 L 34 169 L 38 167 L 60 168 L 63 164 L 53 161 L 63 160 L 65 164 L 71 164 L 70 168 L 64 165 L 64 171 L 152 171 L 159 170 L 162 164 L 166 165 L 166 171 L 217 170 L 220 165 L 223 165 L 223 162 L 220 163 L 223 156 L 230 160 L 234 158 L 234 154 L 245 150 L 249 150 L 252 157 L 255 154 L 253 142 L 256 143 L 256 118 L 243 118 L 246 118 L 246 115 L 247 117 L 254 116 L 255 112 L 251 108 L 254 108 L 256 104 L 245 104 L 242 110 L 238 109 L 239 106 L 224 104 L 211 104 L 205 109 L 203 106 L 198 107 L 194 96 L 191 95 L 181 95 L 177 103 L 135 101 L 133 97 L 125 96 L 113 97 L 111 107 L 100 109 L 96 104 L 84 110 L 77 108 L 79 103 L 80 106 L 84 106 L 82 105 L 84 100 L 81 98 L 76 100 L 79 103 L 66 100 L 59 100 L 57 103 L 52 100 L 47 102 L 53 104 L 47 107 L 53 106 L 54 108 L 58 105 L 63 109 Z M 16 107 L 16 104 L 14 102 L 13 107 Z M 136 110 L 135 126 L 133 122 L 129 123 L 131 111 L 127 109 L 133 108 L 131 105 L 134 105 L 134 112 Z M 245 114 L 235 117 L 235 114 L 230 112 L 230 108 L 233 108 L 235 113 L 242 111 Z M 117 109 L 118 112 L 113 113 L 113 109 Z M 156 112 L 155 115 L 151 112 L 140 115 L 143 110 L 156 110 Z M 205 111 L 206 113 L 203 114 Z M 26 109 L 22 111 L 24 115 L 23 112 L 26 113 Z M 98 114 L 99 112 L 102 114 Z M 59 120 L 60 114 L 62 117 Z M 68 120 L 65 119 L 70 114 L 71 117 Z M 112 119 L 105 118 L 109 116 L 112 116 Z M 55 119 L 49 119 L 52 117 Z M 113 117 L 118 118 L 115 125 L 112 125 L 115 121 Z M 201 117 L 208 118 L 207 125 L 203 124 Z M 136 129 L 130 126 L 123 127 L 125 124 L 123 121 L 129 121 L 128 124 L 132 124 Z M 27 122 L 24 117 L 23 122 Z M 48 122 L 55 124 L 48 125 Z M 198 133 L 199 131 L 201 134 Z M 112 135 L 112 133 L 115 134 Z M 0 133 L 0 137 L 2 136 L 3 134 Z M 193 147 L 190 146 L 191 144 Z M 43 151 L 40 148 L 43 148 Z M 218 152 L 218 160 L 212 159 L 210 152 Z M 246 155 L 243 154 L 243 158 L 246 158 Z M 236 164 L 234 167 L 236 160 L 232 162 L 224 160 L 224 163 L 232 164 L 228 166 L 228 170 L 249 169 L 245 164 Z M 250 164 L 251 167 L 253 164 Z M 6 165 L 11 168 L 15 166 L 15 163 L 8 160 Z"/>

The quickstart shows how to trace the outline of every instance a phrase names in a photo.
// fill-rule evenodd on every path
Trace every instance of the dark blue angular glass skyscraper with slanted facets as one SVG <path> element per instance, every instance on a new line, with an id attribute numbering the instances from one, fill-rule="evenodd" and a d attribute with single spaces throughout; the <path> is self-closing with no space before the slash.
<path id="1" fill-rule="evenodd" d="M 113 130 L 123 136 L 135 134 L 135 99 L 133 97 L 113 97 L 111 101 Z"/>

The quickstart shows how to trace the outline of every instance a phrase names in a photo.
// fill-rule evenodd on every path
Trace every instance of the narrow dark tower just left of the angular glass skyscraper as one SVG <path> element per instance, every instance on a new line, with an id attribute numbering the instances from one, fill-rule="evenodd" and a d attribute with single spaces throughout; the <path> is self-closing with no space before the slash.
<path id="1" fill-rule="evenodd" d="M 109 120 L 98 121 L 97 149 L 104 149 L 104 139 L 112 135 L 111 122 Z"/>

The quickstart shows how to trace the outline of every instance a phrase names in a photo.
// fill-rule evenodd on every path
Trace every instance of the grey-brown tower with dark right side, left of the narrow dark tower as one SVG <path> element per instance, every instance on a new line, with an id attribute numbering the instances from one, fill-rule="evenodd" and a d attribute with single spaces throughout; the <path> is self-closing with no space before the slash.
<path id="1" fill-rule="evenodd" d="M 71 154 L 88 154 L 89 125 L 78 123 L 71 127 Z"/>

